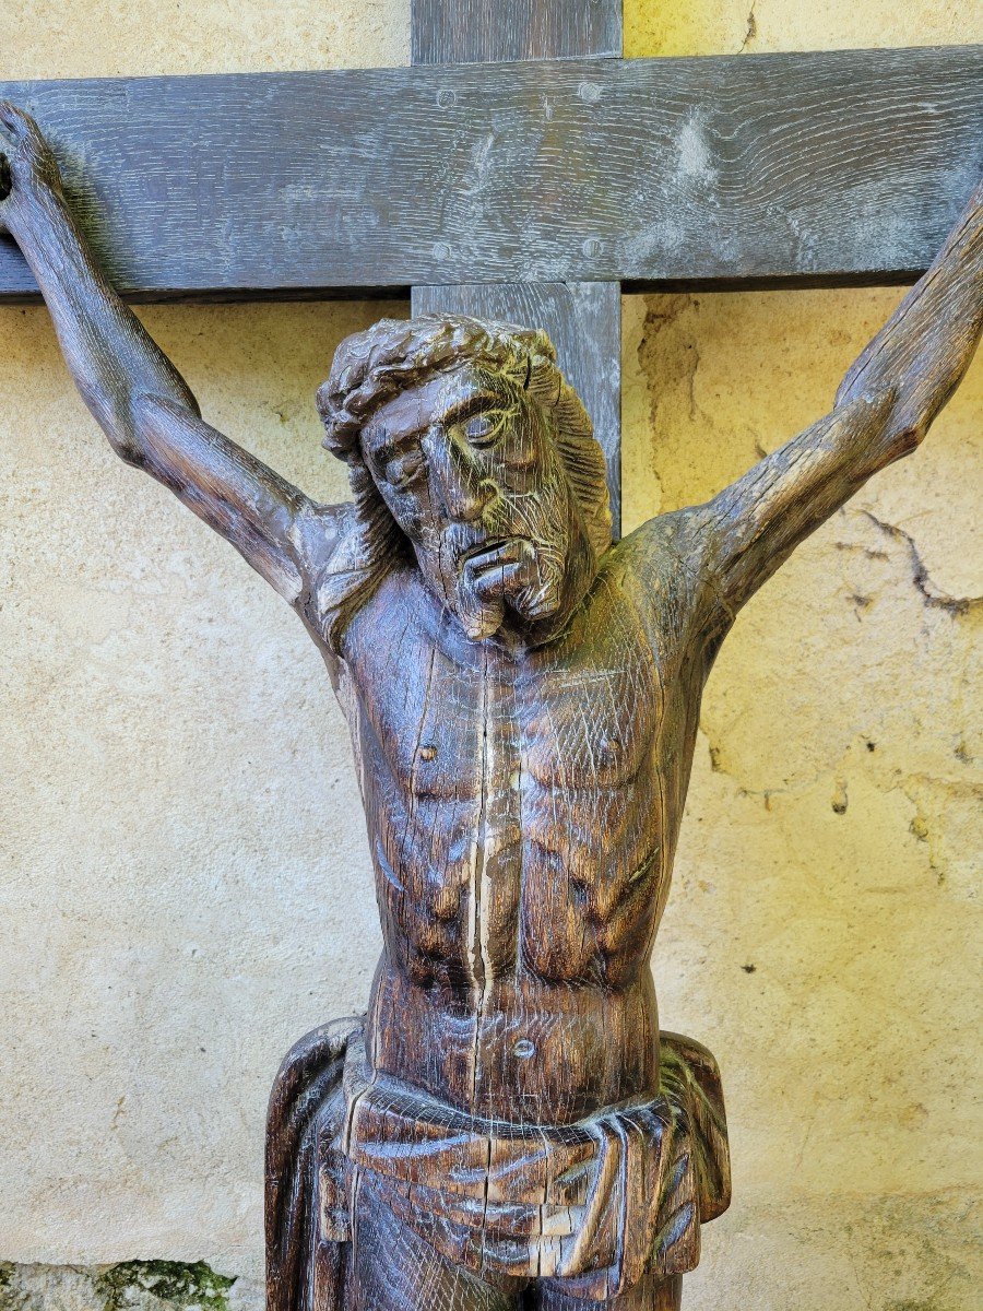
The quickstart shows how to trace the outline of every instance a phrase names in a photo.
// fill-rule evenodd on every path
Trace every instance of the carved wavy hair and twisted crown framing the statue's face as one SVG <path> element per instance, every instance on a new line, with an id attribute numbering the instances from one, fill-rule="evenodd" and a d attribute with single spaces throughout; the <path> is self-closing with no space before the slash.
<path id="1" fill-rule="evenodd" d="M 509 379 L 536 400 L 549 425 L 587 538 L 600 557 L 611 544 L 604 452 L 579 396 L 556 363 L 541 329 L 486 323 L 464 315 L 381 319 L 338 346 L 330 376 L 317 391 L 325 447 L 349 465 L 354 496 L 351 530 L 334 552 L 318 587 L 328 641 L 336 646 L 345 624 L 380 585 L 405 539 L 379 494 L 360 446 L 370 416 L 410 387 L 464 363 Z"/>

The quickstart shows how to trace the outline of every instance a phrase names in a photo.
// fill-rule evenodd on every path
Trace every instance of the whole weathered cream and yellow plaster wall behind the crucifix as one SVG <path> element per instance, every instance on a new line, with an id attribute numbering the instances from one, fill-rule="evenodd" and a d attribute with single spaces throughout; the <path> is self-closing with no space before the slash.
<path id="1" fill-rule="evenodd" d="M 979 4 L 941 0 L 625 20 L 629 55 L 983 39 Z M 3 77 L 408 58 L 406 0 L 0 14 Z M 823 413 L 898 296 L 628 298 L 628 526 Z M 408 305 L 140 315 L 211 422 L 339 498 L 312 396 L 383 312 Z M 978 362 L 748 606 L 708 688 L 655 953 L 663 1023 L 717 1053 L 731 1121 L 691 1311 L 983 1304 L 980 416 Z M 204 1260 L 254 1299 L 270 1079 L 360 1008 L 379 949 L 343 724 L 286 607 L 107 451 L 43 309 L 0 309 L 0 1261 Z M 89 1304 L 81 1276 L 24 1278 Z"/>

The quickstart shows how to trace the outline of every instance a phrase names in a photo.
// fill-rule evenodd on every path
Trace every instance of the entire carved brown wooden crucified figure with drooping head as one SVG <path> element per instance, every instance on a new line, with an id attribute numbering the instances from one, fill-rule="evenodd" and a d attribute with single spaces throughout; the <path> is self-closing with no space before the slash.
<path id="1" fill-rule="evenodd" d="M 0 220 L 119 455 L 298 611 L 351 729 L 385 947 L 304 1038 L 267 1142 L 271 1311 L 679 1304 L 727 1205 L 720 1082 L 649 956 L 700 696 L 734 616 L 912 451 L 983 323 L 983 189 L 824 418 L 611 543 L 604 461 L 541 332 L 384 320 L 317 396 L 354 499 L 216 433 L 94 266 L 33 122 Z"/>

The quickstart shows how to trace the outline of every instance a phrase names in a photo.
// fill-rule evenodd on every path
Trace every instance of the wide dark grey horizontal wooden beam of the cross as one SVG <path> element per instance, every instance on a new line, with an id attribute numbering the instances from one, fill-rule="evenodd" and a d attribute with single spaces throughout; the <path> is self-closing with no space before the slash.
<path id="1" fill-rule="evenodd" d="M 910 279 L 983 166 L 980 46 L 0 83 L 140 299 Z M 0 298 L 33 279 L 0 243 Z"/>

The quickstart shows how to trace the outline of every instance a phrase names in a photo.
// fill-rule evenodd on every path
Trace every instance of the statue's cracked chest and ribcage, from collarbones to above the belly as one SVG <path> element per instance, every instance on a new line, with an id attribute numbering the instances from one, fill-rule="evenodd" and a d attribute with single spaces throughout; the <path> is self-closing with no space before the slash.
<path id="1" fill-rule="evenodd" d="M 665 864 L 665 695 L 630 602 L 603 597 L 512 658 L 385 600 L 346 676 L 391 948 L 418 982 L 471 986 L 633 954 Z"/>

